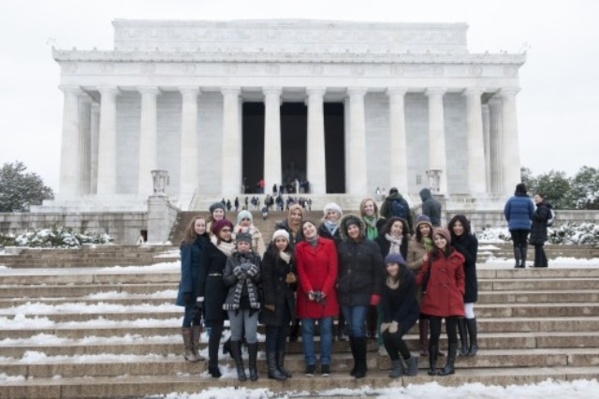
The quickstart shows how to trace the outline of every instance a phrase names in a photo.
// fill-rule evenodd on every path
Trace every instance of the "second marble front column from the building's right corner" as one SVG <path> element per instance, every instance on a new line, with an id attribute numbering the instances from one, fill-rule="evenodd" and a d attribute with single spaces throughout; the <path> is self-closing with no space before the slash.
<path id="1" fill-rule="evenodd" d="M 477 88 L 468 88 L 464 91 L 468 128 L 468 188 L 471 194 L 487 192 L 487 168 L 480 99 L 482 93 L 482 90 Z"/>

